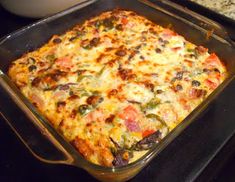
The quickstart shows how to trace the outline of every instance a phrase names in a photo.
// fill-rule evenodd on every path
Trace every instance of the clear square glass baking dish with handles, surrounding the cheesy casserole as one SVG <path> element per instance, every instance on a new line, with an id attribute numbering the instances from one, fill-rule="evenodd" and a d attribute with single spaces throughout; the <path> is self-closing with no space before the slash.
<path id="1" fill-rule="evenodd" d="M 163 27 L 171 26 L 190 42 L 216 52 L 229 74 L 202 104 L 143 157 L 123 167 L 108 168 L 85 160 L 19 92 L 6 72 L 11 61 L 42 46 L 52 35 L 64 33 L 75 24 L 114 8 L 132 10 Z M 32 154 L 44 162 L 80 167 L 102 181 L 126 181 L 135 176 L 195 121 L 232 81 L 235 73 L 235 48 L 223 27 L 167 0 L 99 0 L 80 9 L 74 7 L 3 38 L 0 42 L 0 60 L 0 114 Z"/>

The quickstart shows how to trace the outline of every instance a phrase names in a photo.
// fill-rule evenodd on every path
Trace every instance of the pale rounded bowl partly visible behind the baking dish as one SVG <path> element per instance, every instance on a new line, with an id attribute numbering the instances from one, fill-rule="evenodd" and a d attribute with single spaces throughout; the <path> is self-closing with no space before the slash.
<path id="1" fill-rule="evenodd" d="M 32 18 L 48 16 L 83 1 L 85 0 L 0 0 L 8 11 Z"/>

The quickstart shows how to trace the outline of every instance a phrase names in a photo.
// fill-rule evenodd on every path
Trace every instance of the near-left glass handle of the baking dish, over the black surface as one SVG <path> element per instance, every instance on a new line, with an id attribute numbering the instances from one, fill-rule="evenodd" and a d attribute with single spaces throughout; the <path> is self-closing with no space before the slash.
<path id="1" fill-rule="evenodd" d="M 22 99 L 15 93 L 14 85 L 1 70 L 0 115 L 36 158 L 47 163 L 72 164 L 71 156 L 64 148 L 60 147 L 59 143 L 56 143 L 57 141 L 53 136 L 50 136 L 45 127 L 39 125 L 36 116 L 29 108 L 25 107 Z"/>

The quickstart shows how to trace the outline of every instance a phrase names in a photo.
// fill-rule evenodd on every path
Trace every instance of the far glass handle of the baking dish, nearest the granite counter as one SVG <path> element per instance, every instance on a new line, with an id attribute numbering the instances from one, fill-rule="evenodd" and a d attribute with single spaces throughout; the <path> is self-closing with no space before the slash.
<path id="1" fill-rule="evenodd" d="M 165 6 L 170 7 L 171 9 L 171 15 L 176 17 L 176 15 L 178 15 L 178 19 L 181 19 L 183 21 L 187 21 L 187 23 L 191 24 L 192 26 L 198 26 L 199 28 L 205 30 L 206 36 L 209 38 L 209 36 L 211 36 L 212 34 L 221 37 L 223 39 L 225 39 L 227 41 L 227 43 L 229 43 L 232 46 L 235 46 L 235 43 L 232 41 L 232 39 L 230 38 L 227 30 L 220 25 L 219 23 L 205 17 L 202 16 L 194 11 L 191 11 L 189 9 L 187 9 L 186 7 L 183 7 L 179 4 L 176 4 L 172 1 L 169 0 L 139 0 L 140 2 L 151 6 L 153 8 L 159 9 L 158 6 L 155 6 L 156 2 L 161 2 L 162 4 L 164 4 Z M 161 11 L 164 11 L 164 13 L 169 14 L 168 11 L 160 8 Z"/>

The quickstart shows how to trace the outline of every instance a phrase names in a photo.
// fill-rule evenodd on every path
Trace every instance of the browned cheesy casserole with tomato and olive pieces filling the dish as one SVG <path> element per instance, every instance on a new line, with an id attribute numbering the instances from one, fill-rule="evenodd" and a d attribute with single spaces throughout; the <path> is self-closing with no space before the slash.
<path id="1" fill-rule="evenodd" d="M 53 36 L 9 76 L 87 160 L 122 166 L 194 110 L 226 68 L 206 48 L 114 10 Z"/>

